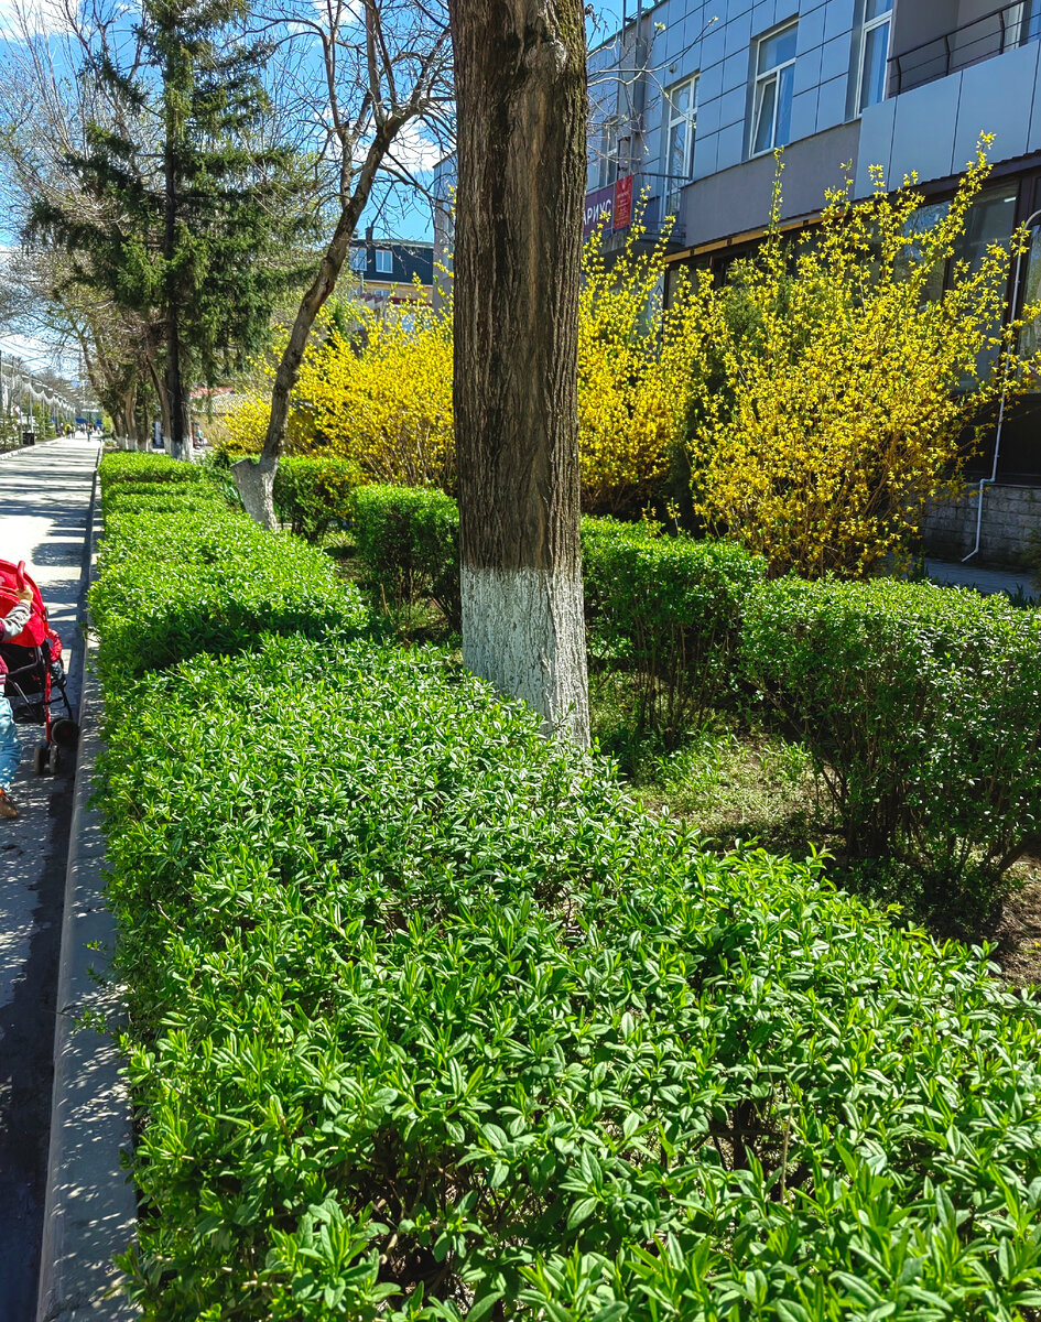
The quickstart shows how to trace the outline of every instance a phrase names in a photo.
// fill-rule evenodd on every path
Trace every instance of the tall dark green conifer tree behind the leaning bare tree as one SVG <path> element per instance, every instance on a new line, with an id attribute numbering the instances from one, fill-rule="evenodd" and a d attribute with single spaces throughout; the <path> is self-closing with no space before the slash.
<path id="1" fill-rule="evenodd" d="M 129 71 L 102 40 L 85 75 L 106 89 L 106 123 L 69 156 L 67 201 L 37 230 L 77 276 L 141 315 L 144 360 L 170 451 L 190 452 L 190 387 L 256 348 L 305 227 L 297 161 L 263 141 L 266 48 L 243 37 L 238 0 L 144 0 Z"/>

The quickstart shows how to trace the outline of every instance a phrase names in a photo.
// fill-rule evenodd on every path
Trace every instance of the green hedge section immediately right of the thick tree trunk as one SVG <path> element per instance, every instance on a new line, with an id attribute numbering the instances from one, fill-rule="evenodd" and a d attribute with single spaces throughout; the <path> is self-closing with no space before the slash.
<path id="1" fill-rule="evenodd" d="M 765 561 L 731 542 L 583 520 L 591 658 L 631 674 L 639 728 L 680 730 L 724 699 L 744 602 L 765 574 Z"/>

